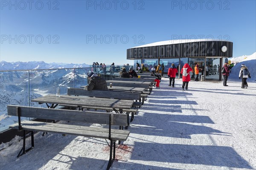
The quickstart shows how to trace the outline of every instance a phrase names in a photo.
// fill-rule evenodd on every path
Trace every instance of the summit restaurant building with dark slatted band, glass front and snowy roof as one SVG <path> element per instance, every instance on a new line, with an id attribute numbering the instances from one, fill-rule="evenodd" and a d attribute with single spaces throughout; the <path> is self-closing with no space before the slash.
<path id="1" fill-rule="evenodd" d="M 198 64 L 202 80 L 221 80 L 221 68 L 224 59 L 233 56 L 233 42 L 223 40 L 169 40 L 140 45 L 127 49 L 127 59 L 143 64 L 143 72 L 151 71 L 158 64 L 164 65 L 164 74 L 167 74 L 172 63 L 180 70 L 185 63 L 193 69 L 190 72 L 194 78 L 194 68 Z M 201 76 L 202 75 L 202 76 Z M 205 76 L 204 76 L 205 75 Z"/>

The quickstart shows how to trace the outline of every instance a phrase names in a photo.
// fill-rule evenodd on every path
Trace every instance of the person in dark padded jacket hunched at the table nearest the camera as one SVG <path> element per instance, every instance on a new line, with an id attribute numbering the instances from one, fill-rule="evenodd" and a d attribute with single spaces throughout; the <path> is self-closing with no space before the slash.
<path id="1" fill-rule="evenodd" d="M 107 82 L 102 77 L 97 74 L 90 72 L 87 74 L 89 82 L 88 85 L 84 87 L 84 90 L 108 90 Z"/>

